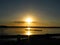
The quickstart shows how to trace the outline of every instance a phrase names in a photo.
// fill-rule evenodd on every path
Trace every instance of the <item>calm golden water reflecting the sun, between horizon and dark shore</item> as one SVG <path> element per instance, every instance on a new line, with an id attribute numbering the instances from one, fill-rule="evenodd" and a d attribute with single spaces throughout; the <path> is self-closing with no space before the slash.
<path id="1" fill-rule="evenodd" d="M 0 28 L 0 35 L 41 35 L 60 33 L 60 28 Z"/>

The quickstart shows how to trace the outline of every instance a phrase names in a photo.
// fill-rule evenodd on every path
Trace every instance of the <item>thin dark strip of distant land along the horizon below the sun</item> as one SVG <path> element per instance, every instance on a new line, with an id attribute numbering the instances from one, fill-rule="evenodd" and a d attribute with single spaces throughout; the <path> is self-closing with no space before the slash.
<path id="1" fill-rule="evenodd" d="M 28 26 L 0 26 L 0 28 L 28 28 Z M 60 28 L 58 26 L 29 26 L 29 28 Z"/>

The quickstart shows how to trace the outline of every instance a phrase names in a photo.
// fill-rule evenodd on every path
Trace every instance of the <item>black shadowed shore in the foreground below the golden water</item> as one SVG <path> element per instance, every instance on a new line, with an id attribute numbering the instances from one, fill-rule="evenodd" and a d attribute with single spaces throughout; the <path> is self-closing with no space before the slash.
<path id="1" fill-rule="evenodd" d="M 31 36 L 1 35 L 0 45 L 60 45 L 60 38 L 52 38 L 54 36 L 60 36 L 60 34 L 31 35 Z M 16 38 L 16 40 L 10 40 L 12 38 Z"/>

